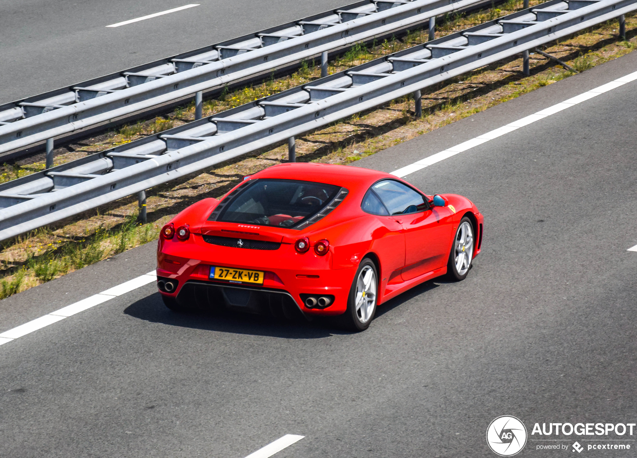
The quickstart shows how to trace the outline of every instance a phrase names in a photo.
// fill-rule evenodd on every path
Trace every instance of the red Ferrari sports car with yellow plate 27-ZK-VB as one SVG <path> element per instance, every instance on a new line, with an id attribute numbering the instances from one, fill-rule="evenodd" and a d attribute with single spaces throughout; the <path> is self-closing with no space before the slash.
<path id="1" fill-rule="evenodd" d="M 430 197 L 389 173 L 281 164 L 166 224 L 157 287 L 175 311 L 300 310 L 363 331 L 401 292 L 445 273 L 464 279 L 482 222 L 466 197 Z"/>

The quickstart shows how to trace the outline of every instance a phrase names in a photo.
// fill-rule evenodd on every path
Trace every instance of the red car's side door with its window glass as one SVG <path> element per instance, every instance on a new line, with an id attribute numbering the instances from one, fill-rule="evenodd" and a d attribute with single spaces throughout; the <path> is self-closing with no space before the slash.
<path id="1" fill-rule="evenodd" d="M 402 280 L 411 280 L 444 266 L 451 234 L 450 211 L 447 208 L 429 208 L 425 196 L 395 180 L 383 180 L 372 189 L 390 216 L 403 225 L 405 265 Z"/>

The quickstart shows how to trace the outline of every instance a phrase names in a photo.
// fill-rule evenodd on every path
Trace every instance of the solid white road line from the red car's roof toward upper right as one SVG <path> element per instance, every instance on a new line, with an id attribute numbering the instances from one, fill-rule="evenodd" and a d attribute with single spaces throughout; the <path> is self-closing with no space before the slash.
<path id="1" fill-rule="evenodd" d="M 408 166 L 404 166 L 392 172 L 392 175 L 400 176 L 401 178 L 410 173 L 414 173 L 415 171 L 419 171 L 420 169 L 424 169 L 429 167 L 436 162 L 443 161 L 448 157 L 455 156 L 456 154 L 462 153 L 466 150 L 470 150 L 473 147 L 477 147 L 478 145 L 482 145 L 486 141 L 493 140 L 499 136 L 508 134 L 509 132 L 517 131 L 520 127 L 524 127 L 525 125 L 533 124 L 540 119 L 544 119 L 547 116 L 554 115 L 555 113 L 559 113 L 559 111 L 566 110 L 566 108 L 570 108 L 571 106 L 575 106 L 578 103 L 582 103 L 585 100 L 591 99 L 592 97 L 599 96 L 599 94 L 603 94 L 604 92 L 608 92 L 609 90 L 620 87 L 626 83 L 637 80 L 637 71 L 634 73 L 630 73 L 629 75 L 622 76 L 621 78 L 617 78 L 617 80 L 612 81 L 610 83 L 606 83 L 605 85 L 601 85 L 596 87 L 595 89 L 591 89 L 583 94 L 580 94 L 575 97 L 571 97 L 568 100 L 565 100 L 561 103 L 555 104 L 553 106 L 549 106 L 544 110 L 538 111 L 537 113 L 533 113 L 533 115 L 529 115 L 517 121 L 511 122 L 510 124 L 503 125 L 498 129 L 487 132 L 486 134 L 482 134 L 477 136 L 476 138 L 472 138 L 471 140 L 460 143 L 459 145 L 455 145 L 455 147 L 447 148 L 440 153 L 433 154 L 424 159 L 420 159 L 420 161 L 416 161 L 413 164 L 409 164 Z M 634 247 L 633 247 L 634 248 Z M 633 251 L 633 248 L 629 248 L 629 251 Z M 637 250 L 634 250 L 637 251 Z"/>

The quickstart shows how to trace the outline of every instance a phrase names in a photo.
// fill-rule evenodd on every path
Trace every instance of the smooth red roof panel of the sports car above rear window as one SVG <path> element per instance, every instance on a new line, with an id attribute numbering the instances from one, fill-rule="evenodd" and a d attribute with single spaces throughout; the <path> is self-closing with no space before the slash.
<path id="1" fill-rule="evenodd" d="M 304 180 L 326 183 L 341 187 L 368 187 L 382 178 L 396 178 L 389 173 L 359 167 L 316 162 L 289 162 L 268 167 L 253 175 L 254 178 L 280 178 L 283 180 Z"/>

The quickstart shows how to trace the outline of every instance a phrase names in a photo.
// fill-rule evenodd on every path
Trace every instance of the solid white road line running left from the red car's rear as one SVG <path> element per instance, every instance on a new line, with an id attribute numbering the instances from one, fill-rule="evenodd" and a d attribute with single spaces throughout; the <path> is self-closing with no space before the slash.
<path id="1" fill-rule="evenodd" d="M 59 320 L 70 317 L 71 315 L 80 313 L 80 311 L 87 310 L 98 304 L 106 302 L 109 299 L 113 299 L 113 297 L 122 296 L 122 294 L 130 292 L 134 289 L 138 289 L 143 285 L 148 285 L 148 283 L 152 283 L 155 280 L 157 280 L 155 271 L 150 271 L 148 273 L 145 273 L 144 275 L 133 278 L 128 282 L 124 282 L 121 285 L 117 285 L 115 287 L 107 289 L 106 291 L 102 291 L 99 294 L 94 294 L 93 296 L 87 297 L 86 299 L 82 299 L 82 301 L 78 301 L 59 310 L 52 311 L 48 315 L 44 315 L 43 317 L 36 318 L 35 320 L 31 320 L 28 323 L 21 324 L 18 327 L 14 327 L 13 329 L 9 329 L 8 331 L 0 334 L 0 345 L 15 340 L 18 337 L 25 336 L 26 334 L 32 333 L 33 331 L 37 331 L 38 329 L 53 324 Z"/>

